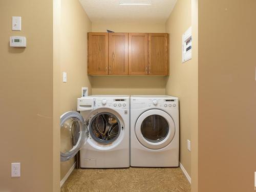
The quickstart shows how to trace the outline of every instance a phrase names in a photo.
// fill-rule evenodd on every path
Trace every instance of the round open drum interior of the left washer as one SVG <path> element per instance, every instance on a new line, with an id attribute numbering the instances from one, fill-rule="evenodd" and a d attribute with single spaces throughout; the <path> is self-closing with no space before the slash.
<path id="1" fill-rule="evenodd" d="M 97 142 L 111 143 L 120 134 L 120 121 L 112 113 L 99 113 L 92 118 L 89 131 Z"/>

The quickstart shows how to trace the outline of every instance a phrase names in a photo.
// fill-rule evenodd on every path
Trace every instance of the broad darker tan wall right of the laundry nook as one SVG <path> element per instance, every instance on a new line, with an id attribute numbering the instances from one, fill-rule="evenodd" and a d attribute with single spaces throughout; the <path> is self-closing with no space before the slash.
<path id="1" fill-rule="evenodd" d="M 255 8 L 199 1 L 199 192 L 254 191 Z"/>

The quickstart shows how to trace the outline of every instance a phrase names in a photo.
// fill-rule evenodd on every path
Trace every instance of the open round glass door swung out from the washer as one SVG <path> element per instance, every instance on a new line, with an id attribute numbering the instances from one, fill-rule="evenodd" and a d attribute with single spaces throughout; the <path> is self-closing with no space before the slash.
<path id="1" fill-rule="evenodd" d="M 88 138 L 88 129 L 80 113 L 67 112 L 60 117 L 60 161 L 74 157 Z"/>

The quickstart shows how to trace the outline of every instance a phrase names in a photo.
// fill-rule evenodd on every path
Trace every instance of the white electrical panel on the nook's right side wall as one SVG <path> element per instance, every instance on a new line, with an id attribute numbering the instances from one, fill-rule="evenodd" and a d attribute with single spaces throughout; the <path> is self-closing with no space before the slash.
<path id="1" fill-rule="evenodd" d="M 192 30 L 191 27 L 182 35 L 182 62 L 192 58 Z"/>

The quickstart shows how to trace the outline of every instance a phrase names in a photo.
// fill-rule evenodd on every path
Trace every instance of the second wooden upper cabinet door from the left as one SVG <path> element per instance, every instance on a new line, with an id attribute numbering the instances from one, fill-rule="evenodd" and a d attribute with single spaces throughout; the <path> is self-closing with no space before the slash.
<path id="1" fill-rule="evenodd" d="M 128 75 L 128 33 L 109 33 L 109 75 Z"/>

